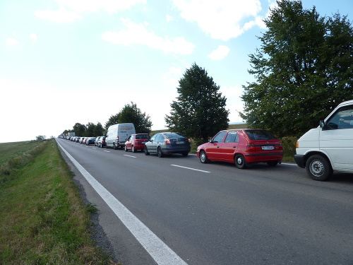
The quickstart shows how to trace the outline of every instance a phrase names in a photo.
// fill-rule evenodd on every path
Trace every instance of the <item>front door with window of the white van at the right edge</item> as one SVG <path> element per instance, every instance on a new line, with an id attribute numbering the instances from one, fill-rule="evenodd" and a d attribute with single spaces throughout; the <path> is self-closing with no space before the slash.
<path id="1" fill-rule="evenodd" d="M 320 149 L 334 170 L 353 172 L 353 105 L 341 107 L 320 131 Z"/>

